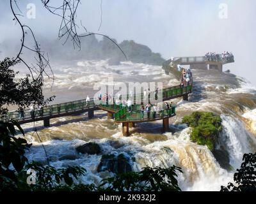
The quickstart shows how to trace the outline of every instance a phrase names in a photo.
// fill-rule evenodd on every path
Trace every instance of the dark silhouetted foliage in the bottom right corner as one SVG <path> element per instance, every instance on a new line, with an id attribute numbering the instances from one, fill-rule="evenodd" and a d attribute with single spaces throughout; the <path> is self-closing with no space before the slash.
<path id="1" fill-rule="evenodd" d="M 256 191 L 256 153 L 244 154 L 241 168 L 234 173 L 234 182 L 221 186 L 221 191 Z"/>

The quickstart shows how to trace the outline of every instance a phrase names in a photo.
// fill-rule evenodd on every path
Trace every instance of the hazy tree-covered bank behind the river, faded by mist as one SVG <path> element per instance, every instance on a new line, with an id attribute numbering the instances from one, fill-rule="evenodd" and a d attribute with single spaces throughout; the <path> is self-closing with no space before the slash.
<path id="1" fill-rule="evenodd" d="M 124 40 L 118 43 L 111 38 L 125 53 L 127 59 L 136 63 L 145 63 L 152 65 L 161 65 L 164 62 L 161 54 L 152 52 L 145 45 L 136 43 L 133 40 Z M 118 47 L 108 38 L 103 37 L 102 40 L 97 40 L 95 36 L 88 36 L 81 39 L 81 50 L 74 50 L 72 42 L 67 41 L 65 49 L 59 40 L 44 39 L 44 50 L 49 50 L 49 55 L 54 60 L 63 61 L 63 56 L 67 56 L 67 60 L 102 60 L 109 59 L 112 64 L 126 61 L 124 55 Z M 58 52 L 56 52 L 58 50 Z M 115 62 L 115 63 L 114 63 Z"/>

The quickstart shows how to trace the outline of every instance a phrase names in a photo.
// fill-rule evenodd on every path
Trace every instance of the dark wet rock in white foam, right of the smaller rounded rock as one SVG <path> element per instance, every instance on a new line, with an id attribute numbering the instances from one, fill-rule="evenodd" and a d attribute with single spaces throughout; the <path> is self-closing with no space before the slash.
<path id="1" fill-rule="evenodd" d="M 132 171 L 129 159 L 124 154 L 104 154 L 100 159 L 97 171 L 112 171 L 113 173 L 126 173 Z"/>

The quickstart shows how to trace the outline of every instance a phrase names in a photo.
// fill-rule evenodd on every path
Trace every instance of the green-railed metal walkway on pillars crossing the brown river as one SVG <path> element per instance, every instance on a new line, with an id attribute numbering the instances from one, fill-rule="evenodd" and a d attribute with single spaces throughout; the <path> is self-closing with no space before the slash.
<path id="1" fill-rule="evenodd" d="M 179 58 L 180 59 L 180 58 Z M 179 61 L 176 59 L 176 61 Z M 195 59 L 198 61 L 199 59 Z M 181 59 L 181 61 L 184 61 Z M 168 69 L 177 80 L 182 78 L 182 70 L 178 71 L 177 68 L 170 68 L 169 61 L 163 64 L 164 69 Z M 168 87 L 159 92 L 163 93 L 163 101 L 167 101 L 174 98 L 183 97 L 188 100 L 188 94 L 192 92 L 193 80 L 191 78 L 191 84 L 181 87 L 176 85 Z M 129 95 L 122 97 L 122 99 L 129 99 Z M 136 101 L 135 101 L 136 99 Z M 138 100 L 140 101 L 138 105 Z M 115 98 L 114 98 L 115 101 Z M 131 110 L 128 110 L 127 106 L 116 105 L 116 104 L 104 104 L 102 101 L 93 99 L 86 102 L 86 99 L 77 101 L 70 101 L 67 103 L 59 103 L 56 105 L 49 105 L 40 108 L 40 110 L 24 110 L 24 112 L 9 112 L 8 115 L 4 116 L 3 120 L 17 120 L 20 124 L 26 124 L 29 122 L 35 122 L 39 120 L 44 121 L 44 126 L 50 126 L 50 119 L 57 117 L 65 117 L 68 115 L 78 115 L 81 113 L 88 112 L 88 118 L 92 119 L 95 110 L 105 110 L 108 112 L 108 119 L 114 119 L 115 122 L 122 123 L 122 132 L 124 136 L 129 135 L 129 127 L 134 127 L 137 122 L 150 122 L 155 120 L 163 120 L 163 129 L 167 130 L 169 125 L 169 118 L 175 116 L 176 108 L 171 107 L 169 109 L 162 109 L 159 111 L 141 112 L 141 106 L 145 104 L 145 97 L 143 94 L 140 96 L 134 96 L 134 104 L 131 106 Z M 148 101 L 147 101 L 148 102 Z"/>

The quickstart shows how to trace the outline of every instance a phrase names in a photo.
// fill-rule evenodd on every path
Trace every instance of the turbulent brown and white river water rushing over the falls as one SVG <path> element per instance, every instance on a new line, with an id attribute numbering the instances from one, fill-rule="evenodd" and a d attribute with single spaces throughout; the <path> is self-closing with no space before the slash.
<path id="1" fill-rule="evenodd" d="M 243 78 L 218 71 L 192 70 L 194 87 L 189 101 L 172 100 L 177 105 L 177 116 L 170 119 L 173 133 L 162 133 L 162 122 L 136 124 L 131 136 L 121 134 L 122 125 L 108 120 L 106 112 L 95 112 L 88 120 L 87 113 L 78 116 L 51 119 L 51 128 L 42 128 L 36 122 L 38 134 L 44 142 L 51 164 L 56 167 L 81 165 L 86 175 L 81 182 L 95 184 L 111 173 L 97 173 L 101 156 L 77 154 L 75 147 L 85 142 L 100 144 L 104 154 L 120 154 L 130 158 L 134 171 L 144 166 L 180 166 L 179 185 L 184 191 L 219 191 L 221 185 L 232 181 L 244 153 L 256 151 L 256 89 Z M 54 66 L 56 80 L 45 84 L 45 95 L 56 95 L 54 103 L 67 102 L 93 96 L 95 83 L 106 84 L 108 77 L 115 82 L 163 82 L 164 87 L 179 82 L 165 75 L 160 66 L 124 62 L 108 66 L 106 61 L 74 62 L 74 65 Z M 221 115 L 223 132 L 214 155 L 205 146 L 189 140 L 190 129 L 181 124 L 184 115 L 194 111 L 211 111 Z M 45 154 L 33 134 L 33 124 L 22 126 L 26 138 L 33 143 L 27 156 L 44 161 Z M 113 143 L 113 141 L 118 142 Z M 72 156 L 72 160 L 63 160 Z"/>

